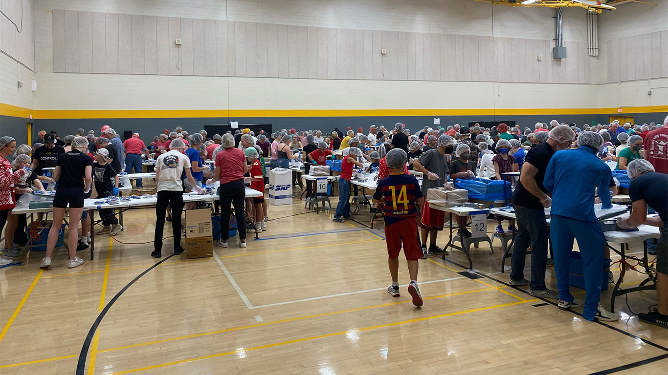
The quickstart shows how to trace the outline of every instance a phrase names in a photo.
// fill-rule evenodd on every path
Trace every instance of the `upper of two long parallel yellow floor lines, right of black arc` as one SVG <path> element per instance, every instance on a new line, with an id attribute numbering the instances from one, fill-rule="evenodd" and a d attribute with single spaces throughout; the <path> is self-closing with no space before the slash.
<path id="1" fill-rule="evenodd" d="M 478 292 L 484 292 L 486 290 L 494 290 L 494 288 L 484 288 L 484 289 L 477 289 L 477 290 L 467 290 L 466 292 L 456 292 L 456 293 L 451 293 L 451 294 L 442 294 L 440 296 L 432 296 L 432 297 L 425 297 L 423 300 L 435 300 L 438 298 L 445 298 L 445 297 L 452 297 L 452 296 L 461 296 L 462 294 L 471 294 L 471 293 L 478 293 Z M 113 352 L 115 350 L 122 350 L 122 349 L 128 349 L 128 348 L 136 348 L 138 346 L 146 346 L 146 345 L 152 345 L 152 344 L 160 344 L 162 342 L 170 342 L 170 341 L 176 341 L 176 340 L 183 340 L 186 338 L 196 338 L 196 337 L 202 337 L 202 336 L 209 336 L 212 334 L 220 334 L 223 332 L 230 332 L 230 331 L 238 331 L 238 330 L 245 330 L 247 328 L 256 328 L 256 327 L 263 327 L 263 326 L 273 326 L 274 324 L 279 324 L 279 323 L 287 323 L 287 322 L 296 322 L 297 320 L 305 320 L 305 319 L 313 319 L 313 318 L 321 318 L 323 316 L 332 316 L 332 315 L 338 315 L 338 314 L 345 314 L 347 312 L 356 312 L 356 311 L 361 311 L 361 310 L 369 310 L 372 308 L 382 308 L 386 306 L 393 306 L 393 305 L 399 305 L 399 304 L 407 304 L 408 302 L 411 302 L 411 300 L 407 301 L 401 301 L 401 302 L 389 302 L 387 304 L 379 304 L 379 305 L 374 305 L 374 306 L 365 306 L 363 308 L 352 308 L 348 310 L 341 310 L 341 311 L 333 311 L 333 312 L 323 312 L 321 314 L 314 314 L 314 315 L 309 315 L 309 316 L 299 316 L 297 318 L 289 318 L 289 319 L 283 319 L 283 320 L 277 320 L 275 322 L 263 322 L 263 323 L 258 323 L 258 324 L 251 324 L 248 326 L 240 326 L 240 327 L 233 327 L 233 328 L 226 328 L 224 330 L 217 330 L 217 331 L 211 331 L 211 332 L 202 332 L 201 334 L 192 334 L 188 336 L 180 336 L 180 337 L 175 337 L 175 338 L 165 338 L 162 340 L 156 340 L 156 341 L 150 341 L 150 342 L 142 342 L 140 344 L 132 344 L 132 345 L 126 345 L 126 346 L 119 346 L 118 348 L 109 348 L 109 349 L 104 349 L 98 351 L 98 353 L 104 353 L 104 352 Z"/>

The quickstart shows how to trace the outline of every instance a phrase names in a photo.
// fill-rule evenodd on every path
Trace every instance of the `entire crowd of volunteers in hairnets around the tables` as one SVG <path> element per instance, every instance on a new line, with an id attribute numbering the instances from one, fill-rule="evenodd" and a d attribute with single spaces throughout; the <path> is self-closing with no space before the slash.
<path id="1" fill-rule="evenodd" d="M 53 190 L 53 222 L 41 268 L 51 266 L 51 254 L 69 208 L 68 267 L 83 264 L 77 250 L 88 247 L 90 219 L 83 211 L 84 198 L 108 198 L 123 187 L 119 173 L 141 173 L 142 161 L 155 161 L 157 185 L 156 230 L 152 256 L 162 257 L 165 221 L 172 235 L 180 238 L 184 207 L 183 193 L 201 193 L 219 185 L 220 240 L 227 248 L 230 214 L 234 209 L 238 246 L 246 247 L 246 233 L 266 230 L 267 202 L 246 198 L 246 188 L 264 194 L 269 169 L 289 168 L 301 161 L 305 173 L 312 165 L 326 165 L 331 157 L 341 159 L 339 201 L 335 222 L 350 218 L 349 198 L 353 170 L 377 171 L 373 201 L 383 207 L 389 270 L 392 284 L 387 291 L 399 296 L 398 256 L 403 248 L 411 282 L 408 292 L 413 303 L 422 305 L 417 284 L 418 260 L 430 254 L 448 254 L 437 245 L 438 232 L 445 226 L 445 212 L 426 201 L 428 190 L 447 181 L 482 178 L 508 180 L 520 172 L 512 194 L 516 220 L 504 228 L 504 218 L 495 216 L 495 232 L 515 234 L 510 284 L 528 285 L 532 296 L 554 298 L 560 308 L 583 307 L 587 320 L 617 320 L 599 302 L 601 264 L 609 256 L 603 231 L 595 215 L 595 202 L 603 210 L 611 207 L 611 195 L 619 192 L 612 170 L 627 171 L 631 179 L 631 216 L 617 220 L 620 228 L 641 224 L 659 227 L 659 240 L 649 240 L 650 254 L 657 256 L 655 311 L 639 314 L 641 320 L 668 327 L 668 117 L 663 124 L 634 125 L 615 120 L 609 124 L 576 125 L 552 120 L 532 127 L 509 127 L 506 123 L 486 127 L 479 123 L 460 126 L 425 126 L 410 131 L 403 123 L 393 127 L 371 125 L 331 131 L 282 129 L 257 133 L 236 129 L 209 136 L 205 130 L 188 134 L 182 127 L 164 129 L 151 141 L 140 134 L 122 141 L 105 125 L 102 133 L 78 129 L 61 139 L 55 131 L 39 131 L 32 145 L 17 145 L 11 136 L 0 138 L 0 230 L 4 229 L 0 264 L 20 256 L 28 241 L 25 214 L 12 213 L 23 194 Z M 144 157 L 145 156 L 145 157 Z M 265 163 L 265 160 L 267 163 Z M 206 161 L 212 161 L 207 163 Z M 367 164 L 368 163 L 368 164 Z M 212 164 L 212 165 L 210 165 Z M 422 184 L 412 171 L 422 172 Z M 512 174 L 512 173 L 510 173 Z M 135 179 L 142 188 L 142 179 Z M 127 182 L 126 182 L 127 183 Z M 295 183 L 301 185 L 301 179 Z M 310 183 L 307 196 L 313 194 Z M 545 208 L 551 207 L 548 226 Z M 102 230 L 97 234 L 118 234 L 122 227 L 113 210 L 100 210 Z M 468 238 L 467 218 L 457 216 L 457 236 Z M 79 235 L 79 222 L 81 234 Z M 569 291 L 570 253 L 574 241 L 582 255 L 587 295 L 584 302 Z M 548 259 L 548 241 L 553 258 Z M 524 278 L 526 252 L 531 250 L 530 279 Z M 174 240 L 174 254 L 184 251 Z M 554 264 L 556 291 L 546 287 L 547 264 Z"/>

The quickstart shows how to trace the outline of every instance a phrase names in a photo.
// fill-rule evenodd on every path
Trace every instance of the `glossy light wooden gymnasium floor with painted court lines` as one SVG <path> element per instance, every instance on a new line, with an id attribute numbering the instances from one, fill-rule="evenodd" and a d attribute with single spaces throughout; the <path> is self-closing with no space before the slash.
<path id="1" fill-rule="evenodd" d="M 577 314 L 581 308 L 560 311 L 529 296 L 527 287 L 507 286 L 494 240 L 494 254 L 485 246 L 472 252 L 483 274 L 476 280 L 460 274 L 466 267 L 459 265 L 468 265 L 462 252 L 446 261 L 421 260 L 425 302 L 415 308 L 402 258 L 401 297 L 385 291 L 391 280 L 383 226 L 364 226 L 368 209 L 357 222 L 340 224 L 327 214 L 303 214 L 301 201 L 269 207 L 269 230 L 248 248 L 230 242 L 227 249 L 216 247 L 214 258 L 168 258 L 126 290 L 160 261 L 150 257 L 151 244 L 130 244 L 152 240 L 152 209 L 126 212 L 118 241 L 98 236 L 96 260 L 85 250 L 79 268 L 67 269 L 61 249 L 50 270 L 39 270 L 41 253 L 25 266 L 0 270 L 0 373 L 668 372 L 668 331 L 629 312 L 656 304 L 653 291 L 629 294 L 629 307 L 618 297 L 619 322 L 587 322 Z M 438 243 L 446 241 L 442 232 Z M 165 249 L 171 246 L 167 240 Z M 627 286 L 643 279 L 627 275 Z M 552 268 L 548 279 L 556 290 Z M 81 356 L 96 318 L 114 298 Z M 604 292 L 606 306 L 609 300 Z M 76 371 L 79 361 L 85 361 L 83 372 Z"/>

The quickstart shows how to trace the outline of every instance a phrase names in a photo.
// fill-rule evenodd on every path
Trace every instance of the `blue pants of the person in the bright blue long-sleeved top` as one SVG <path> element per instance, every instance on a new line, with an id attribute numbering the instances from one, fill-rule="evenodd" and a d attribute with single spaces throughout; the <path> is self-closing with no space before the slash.
<path id="1" fill-rule="evenodd" d="M 552 215 L 550 240 L 554 248 L 556 286 L 559 289 L 559 299 L 564 301 L 573 300 L 569 290 L 570 253 L 573 250 L 573 240 L 578 240 L 585 277 L 585 290 L 587 291 L 582 318 L 594 320 L 599 300 L 601 300 L 603 251 L 605 250 L 605 236 L 603 236 L 601 226 L 595 222 L 582 222 Z"/>

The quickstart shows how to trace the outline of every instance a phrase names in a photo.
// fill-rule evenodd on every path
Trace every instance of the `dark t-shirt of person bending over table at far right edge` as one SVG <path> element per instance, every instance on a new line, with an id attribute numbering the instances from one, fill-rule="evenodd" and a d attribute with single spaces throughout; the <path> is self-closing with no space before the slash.
<path id="1" fill-rule="evenodd" d="M 645 200 L 663 222 L 668 222 L 668 174 L 652 172 L 635 177 L 629 185 L 631 201 Z"/>

